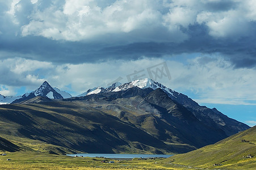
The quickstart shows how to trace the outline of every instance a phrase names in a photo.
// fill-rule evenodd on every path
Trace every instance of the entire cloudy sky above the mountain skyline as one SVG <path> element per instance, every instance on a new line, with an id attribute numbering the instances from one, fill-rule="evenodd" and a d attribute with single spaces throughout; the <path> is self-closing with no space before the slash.
<path id="1" fill-rule="evenodd" d="M 254 0 L 0 0 L 0 94 L 150 77 L 256 125 Z M 161 64 L 170 76 L 150 76 Z"/>

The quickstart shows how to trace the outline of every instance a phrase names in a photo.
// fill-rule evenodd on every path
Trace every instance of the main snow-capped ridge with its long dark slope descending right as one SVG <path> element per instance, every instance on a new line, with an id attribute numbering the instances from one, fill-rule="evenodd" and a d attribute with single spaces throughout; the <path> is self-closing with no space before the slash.
<path id="1" fill-rule="evenodd" d="M 161 88 L 161 90 L 164 91 L 173 101 L 182 104 L 183 107 L 187 108 L 190 112 L 192 112 L 194 116 L 202 122 L 202 124 L 208 126 L 208 128 L 212 127 L 213 129 L 221 129 L 225 131 L 227 136 L 236 134 L 239 131 L 243 131 L 250 128 L 249 126 L 241 122 L 238 122 L 236 120 L 233 120 L 232 118 L 225 116 L 223 113 L 217 111 L 216 108 L 209 109 L 207 107 L 200 106 L 198 103 L 190 99 L 188 96 L 171 90 L 170 88 L 163 86 L 161 83 L 154 82 L 154 80 L 148 78 L 134 80 L 132 82 L 124 84 L 114 83 L 112 84 L 112 86 L 107 88 L 98 87 L 92 90 L 93 92 L 91 92 L 91 94 L 104 94 L 107 92 L 126 91 L 133 87 L 138 87 L 141 89 L 151 88 L 152 90 Z M 85 93 L 84 95 L 88 96 L 90 94 Z"/>

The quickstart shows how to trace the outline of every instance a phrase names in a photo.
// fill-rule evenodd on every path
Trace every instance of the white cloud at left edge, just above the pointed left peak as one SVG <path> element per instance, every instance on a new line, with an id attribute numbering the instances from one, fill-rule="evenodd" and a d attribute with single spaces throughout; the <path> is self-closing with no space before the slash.
<path id="1" fill-rule="evenodd" d="M 24 58 L 9 58 L 0 61 L 0 84 L 5 84 L 5 94 L 16 93 L 16 88 L 26 86 L 33 90 L 44 81 L 44 73 L 51 72 L 54 66 L 49 62 L 34 61 Z M 11 91 L 13 90 L 13 91 Z M 0 93 L 1 94 L 1 93 Z"/>

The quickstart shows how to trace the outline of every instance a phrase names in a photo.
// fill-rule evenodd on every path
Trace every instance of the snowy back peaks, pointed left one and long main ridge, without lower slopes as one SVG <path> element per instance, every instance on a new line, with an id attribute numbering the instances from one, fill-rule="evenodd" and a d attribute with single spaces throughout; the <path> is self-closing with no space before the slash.
<path id="1" fill-rule="evenodd" d="M 138 87 L 141 89 L 150 88 L 152 90 L 160 88 L 163 92 L 165 92 L 165 94 L 167 94 L 170 97 L 171 100 L 181 104 L 188 111 L 192 112 L 194 116 L 198 118 L 199 121 L 204 122 L 205 125 L 211 126 L 213 128 L 220 128 L 221 130 L 224 130 L 226 135 L 228 136 L 236 134 L 238 133 L 238 131 L 242 131 L 248 128 L 244 124 L 231 118 L 228 118 L 221 112 L 217 111 L 216 108 L 210 109 L 204 106 L 200 106 L 198 103 L 190 99 L 188 96 L 171 90 L 170 88 L 163 86 L 161 83 L 155 82 L 152 79 L 148 78 L 134 80 L 132 82 L 124 84 L 117 82 L 107 88 L 95 87 L 89 89 L 81 95 L 78 95 L 77 97 L 89 96 L 93 94 L 104 94 L 108 92 L 125 91 L 133 87 Z M 45 81 L 37 90 L 31 92 L 30 94 L 24 94 L 19 99 L 16 99 L 17 97 L 12 97 L 11 99 L 15 99 L 12 101 L 12 103 L 19 103 L 20 101 L 32 99 L 36 96 L 48 97 L 49 99 L 68 99 L 72 97 L 65 91 L 60 91 L 56 87 L 52 88 L 50 84 Z M 6 97 L 6 99 L 8 99 L 8 97 Z"/>

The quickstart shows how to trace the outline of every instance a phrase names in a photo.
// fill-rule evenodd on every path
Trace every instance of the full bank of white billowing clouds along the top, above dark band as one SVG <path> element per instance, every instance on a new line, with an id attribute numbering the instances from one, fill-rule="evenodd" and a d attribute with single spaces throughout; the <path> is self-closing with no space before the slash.
<path id="1" fill-rule="evenodd" d="M 119 35 L 123 33 L 127 35 L 122 36 L 123 39 L 133 36 L 136 42 L 137 32 L 154 31 L 157 34 L 159 30 L 167 29 L 166 40 L 181 42 L 187 40 L 189 35 L 181 31 L 179 25 L 187 28 L 197 23 L 207 25 L 209 35 L 216 38 L 247 35 L 250 22 L 256 20 L 255 1 L 227 1 L 230 7 L 220 11 L 211 8 L 212 5 L 222 8 L 223 3 L 199 0 L 175 0 L 171 3 L 153 0 L 108 3 L 68 0 L 45 5 L 35 0 L 14 0 L 8 12 L 13 22 L 20 24 L 23 36 L 43 36 L 53 40 L 92 40 L 110 34 L 120 39 Z M 146 41 L 154 40 L 150 33 L 144 36 Z"/>

